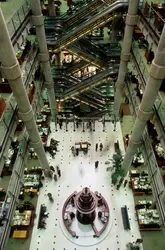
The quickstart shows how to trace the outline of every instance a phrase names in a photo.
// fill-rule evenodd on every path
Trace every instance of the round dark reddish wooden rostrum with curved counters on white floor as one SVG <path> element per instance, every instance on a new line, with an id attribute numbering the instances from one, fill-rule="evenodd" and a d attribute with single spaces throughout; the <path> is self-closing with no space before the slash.
<path id="1" fill-rule="evenodd" d="M 75 191 L 67 198 L 63 206 L 62 217 L 63 223 L 72 237 L 79 238 L 78 233 L 71 229 L 75 220 L 83 225 L 91 225 L 94 231 L 92 237 L 100 237 L 109 223 L 109 206 L 100 193 L 92 192 L 85 187 L 82 191 Z M 99 230 L 95 225 L 96 220 L 102 222 Z"/>

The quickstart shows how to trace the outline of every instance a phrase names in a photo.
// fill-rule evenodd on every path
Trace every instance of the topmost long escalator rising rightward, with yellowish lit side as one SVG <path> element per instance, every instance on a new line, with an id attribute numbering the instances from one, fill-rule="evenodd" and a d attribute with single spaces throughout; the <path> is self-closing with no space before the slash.
<path id="1" fill-rule="evenodd" d="M 55 45 L 54 52 L 58 52 L 75 40 L 88 34 L 93 29 L 99 28 L 108 23 L 113 19 L 113 16 L 115 14 L 114 11 L 126 6 L 128 6 L 128 0 L 117 0 L 105 9 L 99 10 L 100 13 L 95 14 L 89 19 L 87 18 L 79 26 L 75 26 L 71 30 L 68 29 L 67 33 L 65 35 L 62 35 L 62 37 L 58 40 L 55 40 L 54 36 L 50 33 L 49 35 L 47 35 L 47 43 L 48 45 Z"/>

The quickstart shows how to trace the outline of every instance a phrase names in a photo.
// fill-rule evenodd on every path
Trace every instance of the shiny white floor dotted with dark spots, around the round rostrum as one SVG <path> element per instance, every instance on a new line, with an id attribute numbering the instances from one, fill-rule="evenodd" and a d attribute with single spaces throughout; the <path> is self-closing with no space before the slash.
<path id="1" fill-rule="evenodd" d="M 80 127 L 78 131 L 73 132 L 71 124 L 69 124 L 68 132 L 63 129 L 55 132 L 53 127 L 51 128 L 52 134 L 50 138 L 53 137 L 59 140 L 60 146 L 55 159 L 51 159 L 51 157 L 48 156 L 49 162 L 50 165 L 53 166 L 59 165 L 62 176 L 57 182 L 54 180 L 45 180 L 44 187 L 40 191 L 37 214 L 39 214 L 40 205 L 44 203 L 50 215 L 47 219 L 46 230 L 37 229 L 38 218 L 36 219 L 30 250 L 44 250 L 48 247 L 49 249 L 58 250 L 84 249 L 83 246 L 76 245 L 76 239 L 74 244 L 65 237 L 61 213 L 66 198 L 73 191 L 79 191 L 85 186 L 90 187 L 92 191 L 98 190 L 106 198 L 110 208 L 111 221 L 111 228 L 107 237 L 102 242 L 90 247 L 87 246 L 85 249 L 124 250 L 126 243 L 133 242 L 140 237 L 138 224 L 137 221 L 135 221 L 134 200 L 131 190 L 129 190 L 128 187 L 121 187 L 121 189 L 117 191 L 114 186 L 111 185 L 110 172 L 106 171 L 105 162 L 112 158 L 114 142 L 119 140 L 120 148 L 124 152 L 120 124 L 117 124 L 116 132 L 113 132 L 113 125 L 111 123 L 106 124 L 106 132 L 102 130 L 103 126 L 101 122 L 96 123 L 96 132 L 89 132 L 87 130 L 82 132 L 82 127 Z M 70 149 L 75 142 L 80 141 L 90 142 L 90 150 L 87 155 L 81 152 L 79 156 L 74 157 Z M 95 152 L 95 144 L 101 142 L 104 145 L 104 150 L 102 152 Z M 95 170 L 95 161 L 97 160 L 99 161 L 99 167 Z M 48 201 L 48 192 L 52 193 L 54 203 Z M 124 231 L 123 228 L 121 207 L 126 204 L 129 209 L 131 231 Z M 93 243 L 91 242 L 91 244 Z"/>

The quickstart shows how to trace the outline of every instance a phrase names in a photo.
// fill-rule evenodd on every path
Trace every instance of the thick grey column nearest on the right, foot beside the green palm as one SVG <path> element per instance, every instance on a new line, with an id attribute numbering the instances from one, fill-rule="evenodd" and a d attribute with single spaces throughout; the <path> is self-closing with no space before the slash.
<path id="1" fill-rule="evenodd" d="M 152 116 L 153 104 L 157 98 L 158 91 L 165 78 L 165 26 L 162 31 L 155 58 L 151 64 L 150 76 L 143 94 L 141 104 L 138 109 L 132 136 L 123 160 L 122 167 L 125 175 L 127 174 L 134 154 L 141 142 L 141 136 L 144 132 L 146 122 Z"/>

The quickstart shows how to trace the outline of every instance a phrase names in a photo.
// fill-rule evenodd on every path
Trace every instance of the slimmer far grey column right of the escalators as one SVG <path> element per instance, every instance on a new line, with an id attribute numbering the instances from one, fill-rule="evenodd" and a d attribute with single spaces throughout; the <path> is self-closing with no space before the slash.
<path id="1" fill-rule="evenodd" d="M 132 36 L 134 26 L 137 24 L 138 21 L 138 6 L 139 0 L 130 0 L 129 7 L 128 7 L 128 14 L 126 17 L 126 27 L 124 32 L 124 39 L 121 51 L 121 58 L 120 58 L 120 67 L 119 67 L 119 74 L 116 81 L 116 90 L 115 90 L 115 101 L 114 101 L 114 114 L 116 117 L 119 116 L 120 104 L 122 93 L 124 90 L 124 81 L 127 72 L 127 64 L 130 60 L 130 50 L 132 44 Z"/>

